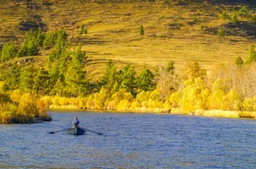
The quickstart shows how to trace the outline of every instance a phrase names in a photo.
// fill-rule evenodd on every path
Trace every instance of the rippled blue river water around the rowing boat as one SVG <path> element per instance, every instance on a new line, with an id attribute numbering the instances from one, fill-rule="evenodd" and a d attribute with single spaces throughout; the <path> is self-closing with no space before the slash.
<path id="1" fill-rule="evenodd" d="M 49 123 L 0 125 L 0 168 L 256 168 L 256 120 L 50 112 Z M 73 136 L 59 132 L 80 126 Z"/>

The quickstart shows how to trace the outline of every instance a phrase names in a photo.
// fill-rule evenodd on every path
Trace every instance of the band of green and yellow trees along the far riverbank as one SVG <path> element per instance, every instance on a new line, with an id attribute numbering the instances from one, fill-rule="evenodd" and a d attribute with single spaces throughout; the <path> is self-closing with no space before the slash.
<path id="1" fill-rule="evenodd" d="M 238 57 L 236 64 L 217 65 L 210 75 L 195 61 L 186 62 L 181 71 L 176 70 L 174 61 L 169 61 L 166 66 L 155 68 L 145 64 L 139 72 L 132 64 L 117 68 L 113 61 L 108 61 L 102 77 L 91 83 L 84 71 L 87 55 L 81 50 L 82 45 L 71 50 L 67 37 L 63 29 L 28 31 L 19 49 L 13 47 L 13 42 L 3 46 L 1 61 L 35 56 L 42 50 L 50 49 L 50 54 L 45 67 L 28 62 L 1 70 L 2 121 L 11 114 L 25 116 L 26 112 L 33 112 L 32 117 L 45 116 L 43 112 L 50 105 L 185 113 L 197 109 L 256 111 L 253 45 L 246 61 Z"/>

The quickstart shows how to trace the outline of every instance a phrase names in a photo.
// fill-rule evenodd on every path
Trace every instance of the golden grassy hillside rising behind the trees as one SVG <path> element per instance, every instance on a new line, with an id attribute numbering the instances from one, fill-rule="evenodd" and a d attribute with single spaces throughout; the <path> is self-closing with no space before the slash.
<path id="1" fill-rule="evenodd" d="M 233 10 L 253 1 L 1 1 L 0 46 L 13 39 L 20 45 L 28 28 L 42 27 L 51 31 L 64 28 L 72 46 L 81 42 L 87 51 L 86 69 L 89 79 L 97 79 L 112 59 L 126 63 L 166 65 L 176 62 L 181 68 L 185 61 L 198 61 L 208 70 L 214 64 L 231 63 L 236 57 L 248 55 L 254 44 L 256 26 L 238 17 L 232 24 Z M 220 15 L 226 10 L 228 19 Z M 84 24 L 88 34 L 79 35 Z M 139 35 L 143 25 L 144 35 Z M 201 26 L 202 25 L 202 26 Z M 217 28 L 225 25 L 226 35 L 217 37 Z M 247 34 L 247 32 L 250 34 Z M 256 34 L 255 34 L 256 35 Z M 46 56 L 48 51 L 41 53 Z M 43 65 L 42 57 L 35 59 Z"/>

